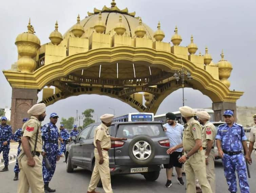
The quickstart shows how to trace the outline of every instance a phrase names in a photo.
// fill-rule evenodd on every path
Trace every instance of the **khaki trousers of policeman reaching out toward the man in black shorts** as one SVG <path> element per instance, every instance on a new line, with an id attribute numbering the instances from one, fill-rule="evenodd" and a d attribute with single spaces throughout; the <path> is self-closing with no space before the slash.
<path id="1" fill-rule="evenodd" d="M 187 179 L 187 193 L 196 193 L 196 177 L 200 181 L 203 193 L 212 193 L 209 182 L 206 178 L 204 151 L 200 151 L 189 157 L 184 164 Z"/>

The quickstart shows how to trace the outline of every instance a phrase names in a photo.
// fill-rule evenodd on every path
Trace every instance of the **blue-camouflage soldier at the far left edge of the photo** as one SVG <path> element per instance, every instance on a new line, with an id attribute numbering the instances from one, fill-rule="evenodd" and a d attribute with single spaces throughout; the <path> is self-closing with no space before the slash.
<path id="1" fill-rule="evenodd" d="M 10 141 L 12 139 L 12 127 L 6 124 L 7 118 L 1 117 L 0 125 L 0 153 L 3 152 L 4 168 L 0 172 L 8 171 Z"/>

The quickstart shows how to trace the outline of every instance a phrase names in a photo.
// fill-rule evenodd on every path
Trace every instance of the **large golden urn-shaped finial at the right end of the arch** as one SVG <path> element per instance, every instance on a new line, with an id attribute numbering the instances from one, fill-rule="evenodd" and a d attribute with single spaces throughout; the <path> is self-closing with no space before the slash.
<path id="1" fill-rule="evenodd" d="M 230 87 L 230 77 L 231 71 L 233 69 L 232 64 L 224 59 L 223 50 L 221 52 L 221 60 L 216 64 L 219 67 L 219 79 L 227 87 Z"/>

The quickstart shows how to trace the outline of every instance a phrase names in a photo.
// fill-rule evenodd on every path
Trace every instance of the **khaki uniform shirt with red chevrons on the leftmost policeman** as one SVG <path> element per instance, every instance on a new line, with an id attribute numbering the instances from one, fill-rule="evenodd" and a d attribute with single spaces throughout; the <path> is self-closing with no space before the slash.
<path id="1" fill-rule="evenodd" d="M 42 143 L 42 134 L 41 134 L 41 128 L 40 128 L 41 122 L 38 121 L 38 119 L 35 116 L 31 116 L 30 119 L 24 123 L 22 126 L 23 137 L 27 136 L 30 137 L 28 140 L 29 147 L 31 152 L 34 151 L 35 148 L 35 142 L 36 142 L 36 132 L 38 130 L 38 138 L 37 138 L 37 144 L 36 144 L 36 151 L 42 152 L 43 143 Z M 21 147 L 22 149 L 22 147 Z"/>

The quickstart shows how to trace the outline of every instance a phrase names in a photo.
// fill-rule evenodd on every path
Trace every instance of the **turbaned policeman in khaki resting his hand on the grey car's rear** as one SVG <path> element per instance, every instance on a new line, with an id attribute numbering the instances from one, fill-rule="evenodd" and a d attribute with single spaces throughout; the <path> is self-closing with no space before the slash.
<path id="1" fill-rule="evenodd" d="M 87 193 L 97 193 L 95 188 L 101 179 L 103 189 L 106 193 L 113 193 L 110 180 L 110 168 L 109 168 L 109 152 L 111 148 L 111 141 L 127 140 L 122 137 L 111 137 L 109 134 L 109 126 L 112 123 L 114 115 L 104 114 L 100 117 L 102 123 L 96 128 L 94 134 L 94 155 L 95 166 L 93 169 L 91 181 L 88 187 Z"/>

